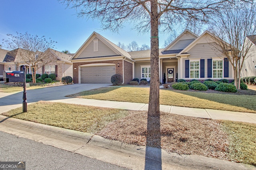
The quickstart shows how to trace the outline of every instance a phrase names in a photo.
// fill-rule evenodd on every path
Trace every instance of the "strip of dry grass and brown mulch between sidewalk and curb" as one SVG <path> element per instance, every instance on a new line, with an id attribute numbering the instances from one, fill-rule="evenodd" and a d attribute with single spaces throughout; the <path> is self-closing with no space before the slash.
<path id="1" fill-rule="evenodd" d="M 128 144 L 161 147 L 178 154 L 197 154 L 256 165 L 256 125 L 252 123 L 216 121 L 164 112 L 161 112 L 160 118 L 148 118 L 146 111 L 44 101 L 28 105 L 26 113 L 22 113 L 20 107 L 3 115 L 94 133 Z M 154 135 L 148 135 L 152 125 L 158 129 Z"/>

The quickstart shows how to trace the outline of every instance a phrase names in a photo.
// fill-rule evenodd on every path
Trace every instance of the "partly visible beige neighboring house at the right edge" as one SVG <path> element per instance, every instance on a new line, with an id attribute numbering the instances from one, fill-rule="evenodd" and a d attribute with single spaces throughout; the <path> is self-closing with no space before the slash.
<path id="1" fill-rule="evenodd" d="M 249 35 L 246 41 L 252 42 L 252 47 L 244 59 L 241 77 L 256 76 L 256 35 Z"/>

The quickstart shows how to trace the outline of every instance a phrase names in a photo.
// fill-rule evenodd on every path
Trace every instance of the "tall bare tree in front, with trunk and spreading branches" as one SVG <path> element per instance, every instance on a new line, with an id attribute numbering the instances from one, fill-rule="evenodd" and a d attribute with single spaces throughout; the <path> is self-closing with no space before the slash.
<path id="1" fill-rule="evenodd" d="M 167 32 L 179 24 L 206 22 L 228 0 L 60 0 L 75 8 L 78 17 L 101 21 L 102 29 L 118 31 L 125 22 L 140 32 L 151 32 L 150 96 L 148 115 L 160 115 L 159 31 Z"/>

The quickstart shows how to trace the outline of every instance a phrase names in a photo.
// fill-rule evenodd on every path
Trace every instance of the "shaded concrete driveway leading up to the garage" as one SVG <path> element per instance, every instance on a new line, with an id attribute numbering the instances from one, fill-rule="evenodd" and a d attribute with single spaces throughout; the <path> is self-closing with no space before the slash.
<path id="1" fill-rule="evenodd" d="M 33 103 L 40 100 L 50 101 L 66 99 L 68 94 L 74 94 L 95 88 L 102 88 L 111 86 L 112 84 L 70 84 L 65 86 L 55 86 L 48 88 L 39 88 L 34 90 L 27 90 L 27 102 Z M 2 93 L 0 92 L 0 113 L 12 109 L 12 106 L 22 106 L 23 92 L 18 93 Z M 16 106 L 17 107 L 17 106 Z"/>

